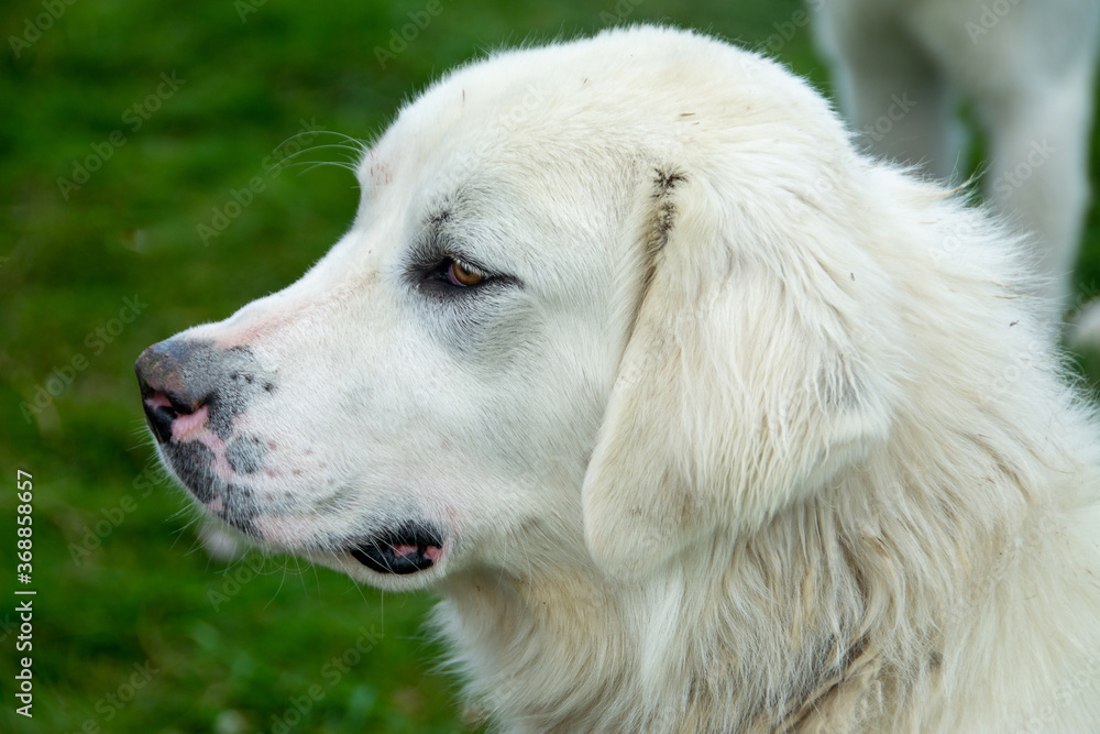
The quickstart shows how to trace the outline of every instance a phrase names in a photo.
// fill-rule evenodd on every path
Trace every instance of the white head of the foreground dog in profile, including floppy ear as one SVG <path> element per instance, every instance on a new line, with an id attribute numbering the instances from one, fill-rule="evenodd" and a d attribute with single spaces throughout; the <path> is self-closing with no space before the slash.
<path id="1" fill-rule="evenodd" d="M 759 526 L 890 423 L 864 165 L 788 72 L 685 32 L 459 69 L 299 282 L 139 358 L 162 458 L 257 543 L 385 588 L 631 574 Z"/>

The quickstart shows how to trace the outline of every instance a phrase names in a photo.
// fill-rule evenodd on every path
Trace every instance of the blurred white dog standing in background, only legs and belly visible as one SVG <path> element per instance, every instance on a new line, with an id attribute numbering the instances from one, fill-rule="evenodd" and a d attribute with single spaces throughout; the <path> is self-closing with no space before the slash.
<path id="1" fill-rule="evenodd" d="M 1097 0 L 809 0 L 842 103 L 877 153 L 965 175 L 963 100 L 989 135 L 987 198 L 1038 237 L 1046 295 L 1072 308 L 1089 200 Z M 1098 314 L 1100 315 L 1100 314 Z M 1097 341 L 1100 341 L 1098 330 Z"/>

